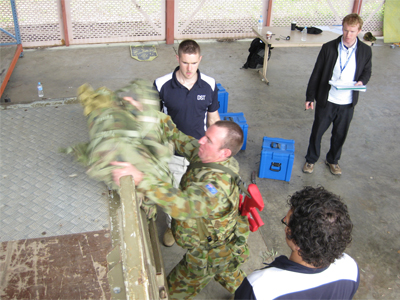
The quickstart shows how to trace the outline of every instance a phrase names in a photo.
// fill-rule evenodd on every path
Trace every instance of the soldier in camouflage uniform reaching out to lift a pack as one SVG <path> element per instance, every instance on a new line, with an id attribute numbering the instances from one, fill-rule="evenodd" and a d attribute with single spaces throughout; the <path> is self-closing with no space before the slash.
<path id="1" fill-rule="evenodd" d="M 218 121 L 196 140 L 161 124 L 176 151 L 193 163 L 216 163 L 235 173 L 239 164 L 232 156 L 241 148 L 243 132 L 231 121 Z M 247 219 L 239 215 L 239 188 L 231 175 L 218 168 L 190 168 L 180 189 L 126 162 L 113 171 L 114 181 L 132 175 L 146 201 L 155 203 L 173 218 L 176 242 L 188 251 L 167 277 L 171 299 L 190 299 L 214 278 L 234 293 L 245 277 L 239 266 L 249 256 Z"/>

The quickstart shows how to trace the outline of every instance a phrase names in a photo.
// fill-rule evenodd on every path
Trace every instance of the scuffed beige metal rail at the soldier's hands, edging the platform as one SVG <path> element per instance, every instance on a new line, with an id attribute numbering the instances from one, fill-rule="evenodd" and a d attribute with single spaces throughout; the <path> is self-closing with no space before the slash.
<path id="1" fill-rule="evenodd" d="M 120 184 L 119 222 L 113 228 L 119 232 L 119 242 L 107 256 L 111 295 L 113 299 L 168 299 L 155 220 L 148 220 L 140 208 L 132 176 L 122 177 Z"/>

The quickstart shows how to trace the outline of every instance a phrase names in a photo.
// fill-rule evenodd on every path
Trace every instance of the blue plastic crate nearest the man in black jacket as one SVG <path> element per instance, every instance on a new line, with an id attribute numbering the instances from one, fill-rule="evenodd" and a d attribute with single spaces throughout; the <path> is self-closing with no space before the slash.
<path id="1" fill-rule="evenodd" d="M 294 140 L 264 137 L 258 177 L 290 181 Z"/>

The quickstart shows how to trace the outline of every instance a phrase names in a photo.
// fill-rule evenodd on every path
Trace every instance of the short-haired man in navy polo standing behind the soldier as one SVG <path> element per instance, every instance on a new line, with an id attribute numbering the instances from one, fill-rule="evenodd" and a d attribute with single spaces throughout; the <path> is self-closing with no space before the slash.
<path id="1" fill-rule="evenodd" d="M 196 139 L 204 136 L 207 126 L 220 119 L 218 108 L 218 88 L 214 78 L 199 71 L 201 61 L 200 46 L 193 40 L 179 44 L 176 55 L 179 66 L 165 76 L 157 78 L 154 85 L 162 101 L 162 110 L 171 116 L 176 127 Z M 175 155 L 169 167 L 179 184 L 186 171 L 188 161 Z M 178 187 L 178 186 L 176 186 Z M 164 234 L 164 245 L 175 243 L 171 232 L 171 219 Z"/>

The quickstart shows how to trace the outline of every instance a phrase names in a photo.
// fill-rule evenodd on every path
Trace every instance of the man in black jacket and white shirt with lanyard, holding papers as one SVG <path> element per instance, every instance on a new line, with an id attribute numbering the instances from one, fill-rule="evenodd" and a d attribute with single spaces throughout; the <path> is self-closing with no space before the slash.
<path id="1" fill-rule="evenodd" d="M 338 161 L 359 91 L 336 90 L 329 81 L 355 82 L 354 85 L 359 86 L 366 85 L 371 77 L 371 47 L 357 38 L 363 25 L 362 19 L 357 14 L 350 14 L 342 24 L 343 35 L 322 46 L 308 82 L 305 106 L 306 109 L 314 109 L 316 100 L 316 109 L 304 173 L 314 171 L 320 156 L 322 136 L 332 123 L 331 145 L 325 163 L 332 174 L 342 174 Z"/>

